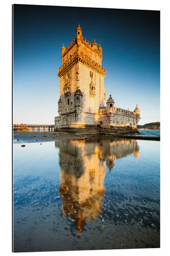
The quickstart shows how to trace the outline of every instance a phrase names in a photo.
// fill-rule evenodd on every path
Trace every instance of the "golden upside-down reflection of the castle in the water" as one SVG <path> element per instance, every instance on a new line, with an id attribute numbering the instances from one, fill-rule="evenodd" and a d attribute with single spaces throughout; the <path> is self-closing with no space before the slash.
<path id="1" fill-rule="evenodd" d="M 136 156 L 139 147 L 126 139 L 58 141 L 55 146 L 60 148 L 62 215 L 74 221 L 80 236 L 83 226 L 102 214 L 106 165 L 111 171 L 116 159 Z"/>

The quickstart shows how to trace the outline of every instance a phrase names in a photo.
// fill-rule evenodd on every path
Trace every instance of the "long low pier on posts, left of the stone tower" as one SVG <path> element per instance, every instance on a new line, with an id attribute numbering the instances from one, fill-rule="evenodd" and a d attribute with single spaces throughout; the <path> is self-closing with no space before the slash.
<path id="1" fill-rule="evenodd" d="M 13 124 L 13 131 L 32 131 L 34 132 L 37 129 L 40 132 L 42 129 L 45 132 L 45 129 L 48 129 L 48 132 L 54 131 L 54 124 Z"/>

